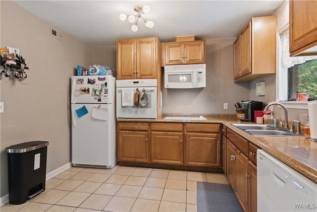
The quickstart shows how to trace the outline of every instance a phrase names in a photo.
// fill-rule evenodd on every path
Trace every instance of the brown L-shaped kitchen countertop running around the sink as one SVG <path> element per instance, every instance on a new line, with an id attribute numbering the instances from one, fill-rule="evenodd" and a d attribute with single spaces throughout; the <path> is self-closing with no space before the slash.
<path id="1" fill-rule="evenodd" d="M 317 183 L 317 142 L 298 137 L 252 136 L 232 125 L 238 123 L 254 124 L 240 122 L 236 119 L 236 114 L 202 115 L 207 120 L 164 120 L 166 116 L 184 116 L 183 114 L 168 114 L 157 120 L 120 119 L 118 121 L 220 123 Z M 200 115 L 185 116 L 199 117 Z"/>

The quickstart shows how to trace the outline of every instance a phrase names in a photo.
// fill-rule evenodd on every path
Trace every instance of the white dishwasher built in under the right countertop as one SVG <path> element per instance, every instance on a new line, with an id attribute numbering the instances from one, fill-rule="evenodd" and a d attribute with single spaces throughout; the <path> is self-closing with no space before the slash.
<path id="1" fill-rule="evenodd" d="M 257 151 L 258 212 L 317 212 L 317 183 Z"/>

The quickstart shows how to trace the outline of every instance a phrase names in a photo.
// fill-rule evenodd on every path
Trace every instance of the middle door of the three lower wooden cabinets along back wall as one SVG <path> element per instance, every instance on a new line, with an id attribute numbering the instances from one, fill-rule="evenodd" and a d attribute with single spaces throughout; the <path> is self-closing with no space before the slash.
<path id="1" fill-rule="evenodd" d="M 151 162 L 183 165 L 183 133 L 152 132 Z"/>

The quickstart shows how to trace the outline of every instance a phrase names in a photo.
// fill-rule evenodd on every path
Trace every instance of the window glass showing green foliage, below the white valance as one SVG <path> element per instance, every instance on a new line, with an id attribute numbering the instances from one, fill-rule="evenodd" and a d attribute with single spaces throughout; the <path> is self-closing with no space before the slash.
<path id="1" fill-rule="evenodd" d="M 296 92 L 308 92 L 313 98 L 317 93 L 317 60 L 307 61 L 288 68 L 288 99 L 296 101 Z"/>

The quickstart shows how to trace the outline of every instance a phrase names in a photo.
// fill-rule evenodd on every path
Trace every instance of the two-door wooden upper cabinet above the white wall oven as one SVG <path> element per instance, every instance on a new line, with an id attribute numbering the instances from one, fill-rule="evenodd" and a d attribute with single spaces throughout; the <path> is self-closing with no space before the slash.
<path id="1" fill-rule="evenodd" d="M 156 79 L 159 50 L 157 37 L 117 40 L 117 79 Z"/>

